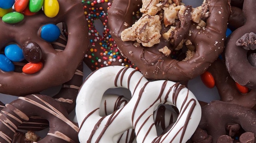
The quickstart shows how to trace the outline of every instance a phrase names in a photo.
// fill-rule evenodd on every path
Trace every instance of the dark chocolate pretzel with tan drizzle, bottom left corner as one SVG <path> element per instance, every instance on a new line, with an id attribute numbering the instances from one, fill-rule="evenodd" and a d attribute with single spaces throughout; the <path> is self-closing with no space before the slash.
<path id="1" fill-rule="evenodd" d="M 49 120 L 50 129 L 42 142 L 77 143 L 78 127 L 70 121 L 66 109 L 47 95 L 31 94 L 6 104 L 0 113 L 0 142 L 11 143 L 17 127 L 31 116 Z"/>

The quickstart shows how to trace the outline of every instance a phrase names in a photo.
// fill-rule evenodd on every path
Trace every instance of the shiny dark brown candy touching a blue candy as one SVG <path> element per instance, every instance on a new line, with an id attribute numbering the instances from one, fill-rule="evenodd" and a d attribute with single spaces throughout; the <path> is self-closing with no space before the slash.
<path id="1" fill-rule="evenodd" d="M 25 59 L 31 63 L 38 63 L 42 59 L 42 49 L 36 42 L 26 42 L 22 52 Z"/>

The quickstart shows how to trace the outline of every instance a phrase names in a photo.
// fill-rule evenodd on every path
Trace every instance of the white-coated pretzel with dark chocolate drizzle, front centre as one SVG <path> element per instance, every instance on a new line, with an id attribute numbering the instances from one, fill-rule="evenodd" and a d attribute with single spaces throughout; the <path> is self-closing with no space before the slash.
<path id="1" fill-rule="evenodd" d="M 129 89 L 132 98 L 114 113 L 100 117 L 102 96 L 107 89 L 115 87 Z M 135 129 L 138 143 L 186 142 L 201 118 L 201 107 L 185 86 L 167 80 L 151 82 L 139 71 L 122 66 L 104 67 L 90 74 L 80 88 L 76 103 L 81 143 L 117 142 L 131 128 Z M 180 114 L 170 130 L 157 136 L 153 111 L 159 104 L 174 105 Z"/>

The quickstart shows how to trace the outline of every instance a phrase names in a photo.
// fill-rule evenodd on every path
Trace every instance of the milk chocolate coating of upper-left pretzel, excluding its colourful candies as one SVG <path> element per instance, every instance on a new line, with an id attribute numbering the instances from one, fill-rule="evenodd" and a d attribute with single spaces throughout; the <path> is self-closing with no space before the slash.
<path id="1" fill-rule="evenodd" d="M 32 75 L 17 72 L 0 72 L 0 93 L 24 96 L 69 81 L 85 55 L 88 45 L 88 30 L 85 28 L 82 4 L 78 0 L 58 1 L 59 12 L 54 18 L 47 17 L 42 10 L 16 24 L 0 23 L 2 36 L 0 48 L 10 43 L 22 47 L 27 41 L 36 42 L 42 49 L 43 68 Z M 74 22 L 75 21 L 75 22 Z M 51 43 L 40 38 L 45 24 L 65 23 L 69 40 L 64 51 L 55 51 Z M 79 41 L 79 42 L 77 42 Z"/>

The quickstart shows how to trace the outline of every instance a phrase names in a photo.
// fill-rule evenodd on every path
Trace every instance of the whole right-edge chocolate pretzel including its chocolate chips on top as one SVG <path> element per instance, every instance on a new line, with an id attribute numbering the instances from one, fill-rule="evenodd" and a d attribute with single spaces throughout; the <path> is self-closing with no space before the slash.
<path id="1" fill-rule="evenodd" d="M 256 18 L 253 12 L 255 4 L 256 2 L 253 0 L 244 1 L 245 24 L 230 35 L 225 48 L 226 67 L 231 77 L 240 85 L 251 89 L 256 89 L 256 78 L 251 76 L 256 73 L 255 54 L 253 54 L 256 33 L 253 27 Z"/>

